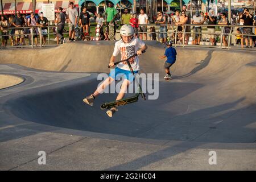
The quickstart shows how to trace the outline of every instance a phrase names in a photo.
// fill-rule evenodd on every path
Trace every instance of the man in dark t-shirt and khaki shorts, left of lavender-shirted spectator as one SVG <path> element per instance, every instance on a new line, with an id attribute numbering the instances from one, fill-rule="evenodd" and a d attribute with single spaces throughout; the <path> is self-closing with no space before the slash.
<path id="1" fill-rule="evenodd" d="M 13 20 L 13 26 L 14 27 L 24 27 L 25 20 L 24 18 L 20 15 L 20 12 L 17 11 L 16 16 Z M 16 44 L 14 46 L 18 46 L 18 44 L 22 45 L 23 38 L 24 38 L 24 30 L 23 28 L 16 28 L 15 29 L 15 39 L 16 39 Z"/>

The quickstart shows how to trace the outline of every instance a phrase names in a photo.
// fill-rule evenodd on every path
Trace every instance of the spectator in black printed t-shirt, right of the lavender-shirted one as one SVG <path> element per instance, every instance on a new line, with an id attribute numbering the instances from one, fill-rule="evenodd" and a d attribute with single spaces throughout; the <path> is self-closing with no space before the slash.
<path id="1" fill-rule="evenodd" d="M 44 14 L 41 12 L 39 14 L 39 18 L 36 20 L 36 25 L 39 26 L 39 36 L 42 41 L 42 44 L 46 44 L 46 36 L 47 36 L 47 26 L 48 26 L 48 19 L 44 17 Z"/>

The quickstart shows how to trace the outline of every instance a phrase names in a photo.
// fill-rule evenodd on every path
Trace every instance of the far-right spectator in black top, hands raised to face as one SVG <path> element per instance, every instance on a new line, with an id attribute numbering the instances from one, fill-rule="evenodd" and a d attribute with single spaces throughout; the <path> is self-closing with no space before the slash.
<path id="1" fill-rule="evenodd" d="M 240 15 L 240 18 L 244 20 L 245 26 L 253 26 L 253 15 L 250 14 L 249 9 L 243 10 L 243 14 Z M 247 34 L 247 35 L 243 36 L 241 41 L 243 42 L 243 39 L 245 38 L 246 48 L 249 48 L 249 46 L 248 46 L 248 39 L 249 39 L 250 40 L 250 48 L 253 48 L 253 38 L 252 38 L 252 36 L 250 36 L 250 35 L 253 35 L 252 28 L 251 27 L 243 27 L 243 34 Z"/>

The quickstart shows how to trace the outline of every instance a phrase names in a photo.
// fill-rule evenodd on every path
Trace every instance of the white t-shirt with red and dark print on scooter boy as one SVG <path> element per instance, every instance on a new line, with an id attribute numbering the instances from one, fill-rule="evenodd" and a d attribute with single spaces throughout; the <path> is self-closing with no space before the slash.
<path id="1" fill-rule="evenodd" d="M 142 40 L 138 38 L 131 39 L 130 43 L 124 43 L 123 40 L 119 40 L 115 43 L 115 48 L 113 52 L 113 56 L 117 56 L 119 52 L 121 52 L 121 60 L 125 60 L 128 57 L 133 56 L 139 49 L 141 49 L 145 45 Z M 139 57 L 132 57 L 130 60 L 131 68 L 133 68 L 133 71 L 139 71 Z M 129 70 L 130 68 L 127 64 L 119 63 L 117 65 L 120 69 Z"/>

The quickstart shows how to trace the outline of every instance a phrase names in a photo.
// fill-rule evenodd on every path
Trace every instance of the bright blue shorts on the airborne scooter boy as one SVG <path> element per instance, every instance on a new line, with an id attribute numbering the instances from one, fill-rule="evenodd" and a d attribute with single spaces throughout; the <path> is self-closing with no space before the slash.
<path id="1" fill-rule="evenodd" d="M 134 71 L 134 73 L 138 73 L 139 71 Z M 109 76 L 112 77 L 114 80 L 118 80 L 121 77 L 125 77 L 130 82 L 133 82 L 134 76 L 131 71 L 120 69 L 118 67 L 115 67 L 115 69 L 111 69 Z"/>

